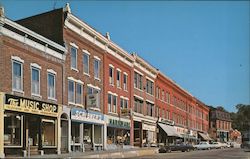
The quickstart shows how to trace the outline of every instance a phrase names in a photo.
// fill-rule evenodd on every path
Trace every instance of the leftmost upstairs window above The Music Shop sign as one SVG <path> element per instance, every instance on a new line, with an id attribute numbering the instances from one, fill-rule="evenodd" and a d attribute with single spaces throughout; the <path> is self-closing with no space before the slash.
<path id="1" fill-rule="evenodd" d="M 12 61 L 12 88 L 23 91 L 23 63 Z"/>

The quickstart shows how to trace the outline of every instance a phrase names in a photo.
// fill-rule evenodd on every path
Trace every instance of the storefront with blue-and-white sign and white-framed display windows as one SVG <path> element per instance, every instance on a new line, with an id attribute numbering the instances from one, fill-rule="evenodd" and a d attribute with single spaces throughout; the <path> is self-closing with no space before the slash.
<path id="1" fill-rule="evenodd" d="M 100 112 L 71 109 L 71 151 L 102 150 L 104 123 Z"/>

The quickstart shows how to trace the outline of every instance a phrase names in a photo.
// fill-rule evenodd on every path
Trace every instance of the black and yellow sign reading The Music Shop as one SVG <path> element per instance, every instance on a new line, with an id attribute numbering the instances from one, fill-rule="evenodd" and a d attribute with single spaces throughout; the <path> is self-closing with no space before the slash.
<path id="1" fill-rule="evenodd" d="M 4 109 L 54 117 L 58 115 L 57 104 L 51 104 L 10 94 L 5 95 Z"/>

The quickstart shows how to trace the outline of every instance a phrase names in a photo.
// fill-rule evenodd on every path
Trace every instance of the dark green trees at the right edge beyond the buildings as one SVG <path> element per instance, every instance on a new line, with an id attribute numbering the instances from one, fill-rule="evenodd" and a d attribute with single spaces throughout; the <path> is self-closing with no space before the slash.
<path id="1" fill-rule="evenodd" d="M 237 104 L 237 113 L 230 113 L 232 128 L 239 131 L 248 131 L 250 127 L 250 105 Z"/>

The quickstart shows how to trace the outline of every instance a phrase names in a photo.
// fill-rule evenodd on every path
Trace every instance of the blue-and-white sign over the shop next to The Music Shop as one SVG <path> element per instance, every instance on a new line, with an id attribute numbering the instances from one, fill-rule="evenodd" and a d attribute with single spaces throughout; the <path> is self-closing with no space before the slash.
<path id="1" fill-rule="evenodd" d="M 81 108 L 71 109 L 71 120 L 104 124 L 103 114 L 90 110 L 86 111 L 85 109 Z"/>

